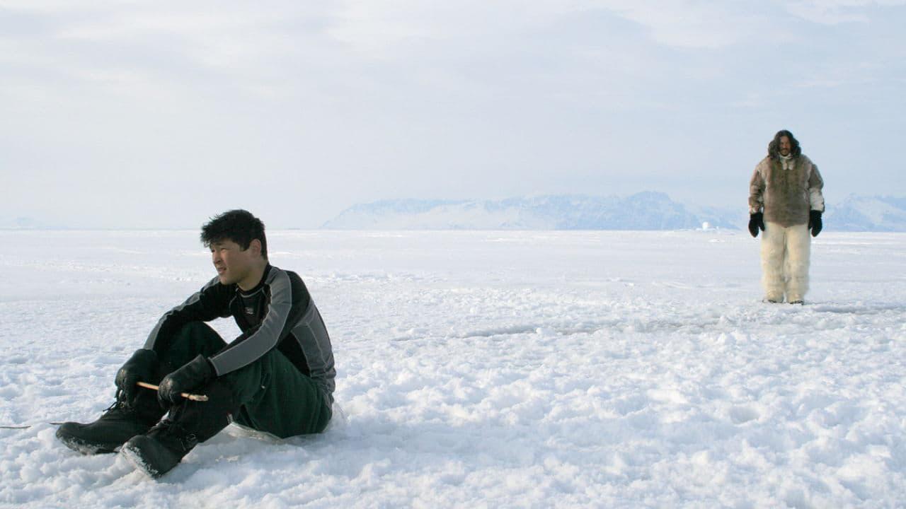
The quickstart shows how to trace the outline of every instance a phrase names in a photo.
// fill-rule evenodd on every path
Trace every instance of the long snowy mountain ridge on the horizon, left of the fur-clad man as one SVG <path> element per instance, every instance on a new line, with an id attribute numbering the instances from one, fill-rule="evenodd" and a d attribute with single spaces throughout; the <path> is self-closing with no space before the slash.
<path id="1" fill-rule="evenodd" d="M 383 200 L 351 206 L 330 229 L 664 230 L 738 228 L 744 214 L 690 209 L 657 192 L 630 197 L 558 195 L 502 200 Z"/>

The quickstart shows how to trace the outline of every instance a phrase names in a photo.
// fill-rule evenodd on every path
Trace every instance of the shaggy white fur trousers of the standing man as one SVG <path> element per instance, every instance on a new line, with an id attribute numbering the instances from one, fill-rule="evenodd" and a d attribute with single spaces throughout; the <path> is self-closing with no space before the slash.
<path id="1" fill-rule="evenodd" d="M 808 263 L 812 238 L 808 225 L 765 223 L 761 237 L 761 283 L 765 298 L 777 303 L 801 301 L 808 292 Z"/>

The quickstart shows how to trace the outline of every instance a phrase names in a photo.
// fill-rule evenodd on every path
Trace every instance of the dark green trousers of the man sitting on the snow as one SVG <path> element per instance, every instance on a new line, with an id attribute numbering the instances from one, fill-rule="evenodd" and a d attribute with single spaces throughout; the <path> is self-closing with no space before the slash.
<path id="1" fill-rule="evenodd" d="M 226 341 L 204 322 L 190 322 L 180 328 L 165 342 L 164 351 L 158 351 L 161 368 L 169 373 L 178 370 L 198 354 L 212 356 L 226 346 Z M 230 416 L 211 415 L 222 426 L 214 425 L 219 430 L 226 427 L 229 418 L 237 424 L 265 431 L 277 437 L 293 437 L 310 433 L 320 433 L 327 427 L 333 415 L 330 402 L 318 389 L 313 379 L 297 370 L 283 353 L 273 350 L 262 358 L 239 370 L 231 371 L 217 377 L 207 386 L 197 389 L 214 400 L 207 402 L 189 402 L 184 400 L 175 407 L 188 406 L 191 412 L 182 408 L 171 408 L 170 416 L 190 415 L 197 420 L 205 416 L 206 408 L 211 413 L 221 413 L 226 409 Z M 204 418 L 204 417 L 202 417 Z M 204 418 L 207 420 L 207 418 Z M 183 423 L 191 428 L 196 423 Z M 200 425 L 200 423 L 198 423 Z M 210 427 L 213 422 L 202 425 Z M 202 433 L 213 436 L 216 431 Z M 202 438 L 202 440 L 206 439 Z"/>

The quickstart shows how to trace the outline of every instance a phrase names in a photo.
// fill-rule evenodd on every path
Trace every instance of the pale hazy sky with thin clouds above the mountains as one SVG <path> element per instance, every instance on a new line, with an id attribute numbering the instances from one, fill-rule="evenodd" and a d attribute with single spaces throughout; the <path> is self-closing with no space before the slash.
<path id="1" fill-rule="evenodd" d="M 906 195 L 906 0 L 0 0 L 0 224 L 321 226 L 387 198 L 745 209 L 776 130 Z"/>

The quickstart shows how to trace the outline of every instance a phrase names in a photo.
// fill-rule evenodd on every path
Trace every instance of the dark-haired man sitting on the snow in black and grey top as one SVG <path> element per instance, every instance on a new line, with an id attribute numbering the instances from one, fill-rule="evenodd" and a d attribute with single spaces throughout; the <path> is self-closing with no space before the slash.
<path id="1" fill-rule="evenodd" d="M 117 372 L 113 405 L 90 424 L 64 423 L 63 444 L 84 454 L 120 449 L 159 477 L 233 421 L 277 437 L 327 426 L 333 349 L 305 283 L 268 262 L 265 226 L 245 210 L 214 217 L 201 242 L 217 277 L 160 318 Z M 204 323 L 227 316 L 242 330 L 229 344 Z"/>

